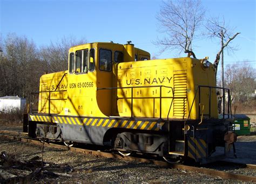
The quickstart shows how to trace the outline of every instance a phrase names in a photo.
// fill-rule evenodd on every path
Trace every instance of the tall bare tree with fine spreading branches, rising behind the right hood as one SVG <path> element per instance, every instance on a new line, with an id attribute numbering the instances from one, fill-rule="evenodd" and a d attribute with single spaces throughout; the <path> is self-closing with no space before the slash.
<path id="1" fill-rule="evenodd" d="M 163 1 L 157 19 L 160 32 L 166 33 L 156 44 L 163 49 L 192 51 L 192 42 L 197 37 L 203 22 L 205 9 L 200 0 Z"/>

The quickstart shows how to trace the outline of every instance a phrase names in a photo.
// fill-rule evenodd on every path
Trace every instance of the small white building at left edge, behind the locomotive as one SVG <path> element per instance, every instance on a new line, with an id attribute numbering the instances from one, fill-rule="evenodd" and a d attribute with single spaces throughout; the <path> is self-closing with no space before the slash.
<path id="1" fill-rule="evenodd" d="M 0 97 L 0 112 L 10 112 L 12 110 L 23 111 L 26 99 L 18 96 Z"/>

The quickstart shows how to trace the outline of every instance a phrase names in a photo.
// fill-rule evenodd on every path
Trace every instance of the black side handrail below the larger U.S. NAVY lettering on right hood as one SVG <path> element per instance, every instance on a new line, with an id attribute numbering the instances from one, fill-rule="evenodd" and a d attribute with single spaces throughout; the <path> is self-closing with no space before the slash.
<path id="1" fill-rule="evenodd" d="M 124 89 L 124 88 L 131 88 L 131 97 L 127 97 L 126 99 L 131 99 L 131 118 L 133 118 L 133 99 L 143 99 L 143 98 L 151 98 L 151 97 L 133 97 L 133 88 L 150 88 L 150 87 L 160 87 L 160 95 L 159 97 L 152 97 L 152 98 L 159 98 L 160 99 L 160 117 L 161 118 L 161 106 L 162 106 L 162 98 L 174 98 L 174 97 L 161 97 L 162 93 L 162 87 L 171 88 L 172 94 L 173 94 L 173 88 L 170 86 L 164 86 L 164 85 L 154 85 L 154 86 L 127 86 L 127 87 L 97 87 L 97 90 L 118 90 L 118 89 Z M 122 98 L 119 98 L 122 99 Z M 124 99 L 124 98 L 123 98 Z M 173 101 L 173 100 L 172 100 Z M 171 103 L 172 106 L 172 103 Z M 171 107 L 170 107 L 171 108 Z M 169 110 L 170 112 L 170 110 Z M 169 116 L 169 113 L 168 113 Z"/>

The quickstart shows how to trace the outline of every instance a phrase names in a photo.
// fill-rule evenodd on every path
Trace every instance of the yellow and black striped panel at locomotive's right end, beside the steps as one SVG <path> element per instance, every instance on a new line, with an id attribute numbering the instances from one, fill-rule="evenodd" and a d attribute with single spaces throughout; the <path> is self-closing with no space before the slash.
<path id="1" fill-rule="evenodd" d="M 187 156 L 194 160 L 207 157 L 207 144 L 204 139 L 188 137 L 187 149 Z"/>

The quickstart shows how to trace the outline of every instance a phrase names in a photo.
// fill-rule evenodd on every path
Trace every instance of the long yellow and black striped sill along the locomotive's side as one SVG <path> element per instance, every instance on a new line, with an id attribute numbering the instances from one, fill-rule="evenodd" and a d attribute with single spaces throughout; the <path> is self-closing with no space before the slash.
<path id="1" fill-rule="evenodd" d="M 143 120 L 122 120 L 111 118 L 81 118 L 81 117 L 64 117 L 48 115 L 29 115 L 30 121 L 53 122 L 69 125 L 97 126 L 97 127 L 114 127 L 114 128 L 131 128 L 139 130 L 159 131 L 165 122 L 143 121 Z"/>

